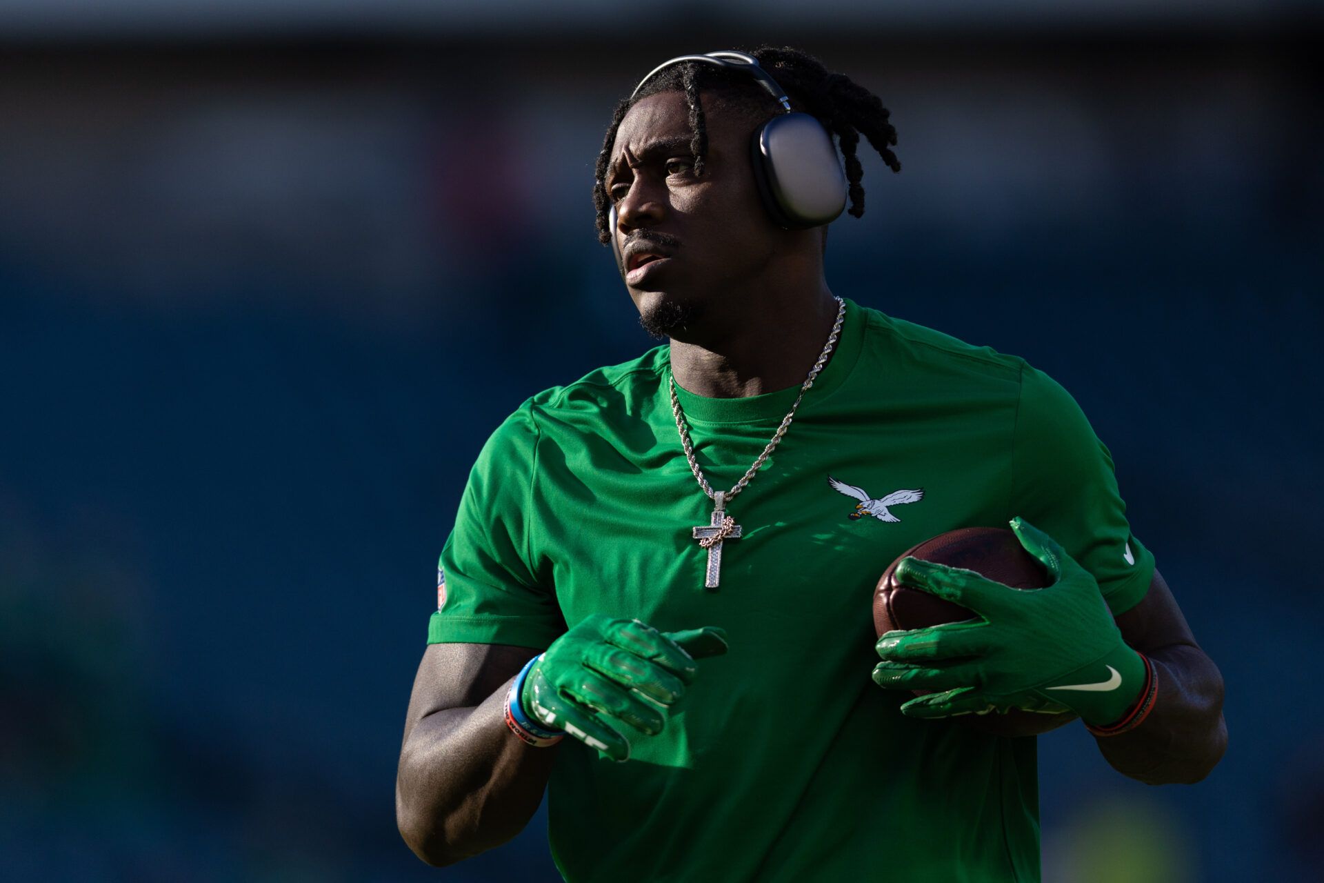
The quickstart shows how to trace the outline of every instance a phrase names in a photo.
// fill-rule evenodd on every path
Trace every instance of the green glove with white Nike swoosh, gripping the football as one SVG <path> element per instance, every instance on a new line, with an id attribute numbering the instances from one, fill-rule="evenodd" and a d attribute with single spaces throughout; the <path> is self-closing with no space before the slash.
<path id="1" fill-rule="evenodd" d="M 1047 534 L 1012 519 L 1053 584 L 1013 589 L 973 571 L 907 557 L 896 580 L 969 608 L 980 618 L 887 631 L 874 669 L 882 687 L 933 690 L 902 706 L 911 718 L 1074 711 L 1091 725 L 1119 720 L 1145 683 L 1145 663 L 1121 639 L 1099 584 Z"/>

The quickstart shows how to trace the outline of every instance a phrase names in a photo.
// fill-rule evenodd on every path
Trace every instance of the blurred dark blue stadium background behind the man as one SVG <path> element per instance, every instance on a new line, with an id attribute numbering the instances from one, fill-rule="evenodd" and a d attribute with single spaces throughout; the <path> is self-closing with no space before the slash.
<path id="1" fill-rule="evenodd" d="M 1317 879 L 1321 33 L 1255 0 L 0 3 L 0 878 L 557 879 L 542 813 L 441 871 L 396 833 L 437 553 L 507 413 L 654 346 L 593 233 L 614 101 L 773 41 L 900 134 L 833 290 L 1061 380 L 1226 679 L 1196 786 L 1039 740 L 1045 879 Z"/>

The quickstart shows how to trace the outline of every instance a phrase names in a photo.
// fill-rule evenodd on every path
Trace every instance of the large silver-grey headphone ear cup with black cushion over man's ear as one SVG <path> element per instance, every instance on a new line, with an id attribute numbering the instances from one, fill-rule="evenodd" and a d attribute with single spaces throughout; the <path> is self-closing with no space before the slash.
<path id="1" fill-rule="evenodd" d="M 846 175 L 831 135 L 809 114 L 775 116 L 749 143 L 759 195 L 773 222 L 804 230 L 846 208 Z"/>

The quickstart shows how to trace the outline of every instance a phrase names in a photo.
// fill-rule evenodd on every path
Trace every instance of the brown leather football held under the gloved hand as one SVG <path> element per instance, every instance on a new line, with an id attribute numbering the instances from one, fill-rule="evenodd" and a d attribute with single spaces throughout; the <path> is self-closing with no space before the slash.
<path id="1" fill-rule="evenodd" d="M 976 617 L 970 610 L 928 592 L 896 582 L 896 565 L 906 556 L 982 573 L 1016 589 L 1041 589 L 1049 575 L 1016 534 L 1000 527 L 963 527 L 911 547 L 883 571 L 874 589 L 874 627 L 878 634 L 894 629 L 923 629 L 941 622 Z M 915 690 L 922 696 L 932 690 Z M 1008 714 L 957 715 L 952 720 L 997 736 L 1037 736 L 1076 719 L 1074 714 L 1050 715 L 1013 710 Z"/>

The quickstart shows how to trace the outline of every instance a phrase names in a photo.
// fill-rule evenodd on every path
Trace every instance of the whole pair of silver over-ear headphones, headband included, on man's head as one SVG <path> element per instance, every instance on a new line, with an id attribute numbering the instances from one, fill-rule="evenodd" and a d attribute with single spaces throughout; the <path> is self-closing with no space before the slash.
<path id="1" fill-rule="evenodd" d="M 658 71 L 685 61 L 716 65 L 727 70 L 744 70 L 781 105 L 782 113 L 755 130 L 749 140 L 755 183 L 772 221 L 788 230 L 805 230 L 834 221 L 846 208 L 846 176 L 841 160 L 837 159 L 831 135 L 813 115 L 790 110 L 786 93 L 753 56 L 728 49 L 670 58 L 639 81 L 630 93 L 630 99 L 638 95 Z M 620 266 L 616 221 L 613 204 L 608 214 L 608 230 Z"/>

